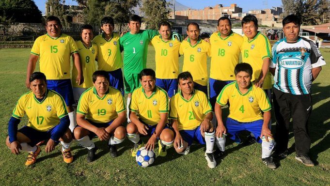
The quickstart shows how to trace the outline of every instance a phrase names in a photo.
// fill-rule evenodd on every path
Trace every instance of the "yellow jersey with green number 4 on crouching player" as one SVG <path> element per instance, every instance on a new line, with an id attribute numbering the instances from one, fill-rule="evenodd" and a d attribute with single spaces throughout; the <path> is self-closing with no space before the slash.
<path id="1" fill-rule="evenodd" d="M 236 81 L 226 85 L 217 97 L 217 103 L 229 106 L 229 118 L 238 122 L 254 122 L 263 119 L 261 111 L 266 112 L 271 109 L 270 102 L 264 90 L 251 87 L 247 93 L 242 94 L 239 91 Z"/>

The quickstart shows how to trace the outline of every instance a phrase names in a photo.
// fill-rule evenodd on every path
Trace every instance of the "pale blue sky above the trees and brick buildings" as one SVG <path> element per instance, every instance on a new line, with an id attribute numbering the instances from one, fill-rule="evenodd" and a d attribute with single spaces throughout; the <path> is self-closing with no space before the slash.
<path id="1" fill-rule="evenodd" d="M 45 14 L 45 2 L 47 0 L 34 0 L 39 10 Z M 238 7 L 243 8 L 243 12 L 248 12 L 249 10 L 265 9 L 266 5 L 263 2 L 267 2 L 267 8 L 272 6 L 281 6 L 281 0 L 176 0 L 185 6 L 189 6 L 192 9 L 204 9 L 206 6 L 213 7 L 216 4 L 223 4 L 224 6 L 230 6 L 232 3 L 236 3 Z M 65 0 L 67 5 L 77 5 L 76 1 Z"/>

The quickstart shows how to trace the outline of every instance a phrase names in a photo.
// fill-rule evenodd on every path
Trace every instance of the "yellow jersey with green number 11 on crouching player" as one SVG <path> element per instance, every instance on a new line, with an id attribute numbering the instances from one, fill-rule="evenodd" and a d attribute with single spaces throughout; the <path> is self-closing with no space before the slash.
<path id="1" fill-rule="evenodd" d="M 132 93 L 129 110 L 139 113 L 139 119 L 145 124 L 156 125 L 160 121 L 160 113 L 169 112 L 169 96 L 155 87 L 154 92 L 148 97 L 144 89 L 139 87 Z"/>

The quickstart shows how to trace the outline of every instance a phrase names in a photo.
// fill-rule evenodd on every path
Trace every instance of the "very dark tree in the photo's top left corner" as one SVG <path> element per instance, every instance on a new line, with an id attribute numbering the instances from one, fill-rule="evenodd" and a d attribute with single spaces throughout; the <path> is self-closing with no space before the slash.
<path id="1" fill-rule="evenodd" d="M 42 21 L 41 11 L 33 0 L 1 0 L 0 14 L 18 23 L 41 23 Z"/>

